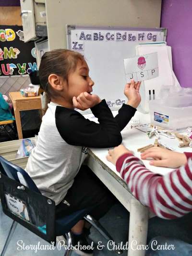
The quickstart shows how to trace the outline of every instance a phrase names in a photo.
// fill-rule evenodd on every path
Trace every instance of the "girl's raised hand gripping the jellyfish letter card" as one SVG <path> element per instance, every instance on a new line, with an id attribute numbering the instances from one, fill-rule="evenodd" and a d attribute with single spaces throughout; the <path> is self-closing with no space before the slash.
<path id="1" fill-rule="evenodd" d="M 127 104 L 133 108 L 137 108 L 141 102 L 141 96 L 139 93 L 141 82 L 134 82 L 131 80 L 131 84 L 126 84 L 124 89 L 124 95 L 128 98 Z"/>

